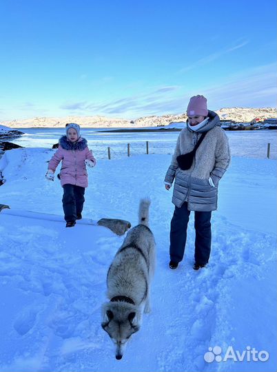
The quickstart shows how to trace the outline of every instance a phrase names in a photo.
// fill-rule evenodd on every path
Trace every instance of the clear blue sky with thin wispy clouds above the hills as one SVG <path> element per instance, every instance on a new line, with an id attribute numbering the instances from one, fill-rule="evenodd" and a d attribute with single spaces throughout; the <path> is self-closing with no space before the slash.
<path id="1" fill-rule="evenodd" d="M 0 121 L 276 106 L 275 0 L 1 0 Z"/>

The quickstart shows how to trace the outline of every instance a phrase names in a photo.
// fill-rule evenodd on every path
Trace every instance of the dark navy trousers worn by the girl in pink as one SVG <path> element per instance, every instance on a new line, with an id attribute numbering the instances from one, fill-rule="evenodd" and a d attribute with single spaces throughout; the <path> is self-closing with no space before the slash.
<path id="1" fill-rule="evenodd" d="M 63 212 L 66 222 L 75 221 L 77 214 L 81 214 L 85 201 L 84 195 L 85 187 L 70 185 L 69 183 L 63 185 Z"/>

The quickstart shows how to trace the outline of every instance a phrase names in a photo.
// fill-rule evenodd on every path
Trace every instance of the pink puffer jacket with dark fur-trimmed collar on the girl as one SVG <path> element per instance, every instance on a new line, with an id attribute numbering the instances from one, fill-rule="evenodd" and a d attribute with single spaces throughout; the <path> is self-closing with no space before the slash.
<path id="1" fill-rule="evenodd" d="M 61 186 L 66 183 L 81 187 L 88 187 L 88 173 L 85 167 L 85 159 L 91 160 L 96 164 L 92 152 L 88 149 L 88 141 L 85 138 L 79 138 L 72 143 L 66 136 L 59 140 L 59 148 L 52 156 L 48 169 L 55 172 L 57 166 L 61 163 Z"/>

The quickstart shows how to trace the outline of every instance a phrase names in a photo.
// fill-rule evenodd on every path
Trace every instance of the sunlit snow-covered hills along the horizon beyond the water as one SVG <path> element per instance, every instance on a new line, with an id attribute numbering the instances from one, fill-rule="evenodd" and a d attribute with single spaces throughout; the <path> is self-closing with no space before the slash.
<path id="1" fill-rule="evenodd" d="M 267 108 L 222 108 L 216 111 L 221 119 L 249 123 L 254 118 L 276 118 L 277 110 Z M 186 121 L 183 114 L 167 114 L 163 116 L 144 116 L 134 121 L 121 118 L 108 118 L 105 116 L 65 116 L 41 117 L 25 120 L 5 121 L 3 124 L 10 127 L 64 127 L 66 123 L 79 123 L 83 127 L 157 127 L 168 125 L 172 122 Z"/>

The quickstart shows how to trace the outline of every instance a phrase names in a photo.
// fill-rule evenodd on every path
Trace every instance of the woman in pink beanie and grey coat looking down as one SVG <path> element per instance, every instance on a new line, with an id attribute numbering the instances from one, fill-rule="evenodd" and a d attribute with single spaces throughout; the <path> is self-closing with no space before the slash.
<path id="1" fill-rule="evenodd" d="M 205 134 L 204 138 L 201 138 Z M 182 154 L 196 149 L 192 165 L 183 170 Z M 172 203 L 175 205 L 170 229 L 170 269 L 176 269 L 183 260 L 187 240 L 189 214 L 194 211 L 196 230 L 194 269 L 207 265 L 211 251 L 212 211 L 217 208 L 218 182 L 230 161 L 227 136 L 220 127 L 216 112 L 207 110 L 204 96 L 193 96 L 187 106 L 187 126 L 181 131 L 176 143 L 172 163 L 165 176 L 165 189 L 174 183 Z M 183 169 L 181 169 L 183 168 Z"/>

